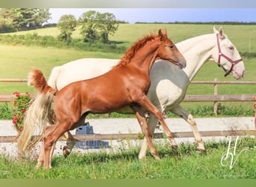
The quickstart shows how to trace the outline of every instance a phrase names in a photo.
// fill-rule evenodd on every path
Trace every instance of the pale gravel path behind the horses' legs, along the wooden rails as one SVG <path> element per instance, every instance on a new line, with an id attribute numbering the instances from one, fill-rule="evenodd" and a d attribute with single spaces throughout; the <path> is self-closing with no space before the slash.
<path id="1" fill-rule="evenodd" d="M 255 129 L 253 117 L 220 117 L 220 118 L 195 118 L 198 124 L 199 131 L 212 131 L 212 130 L 231 130 L 231 129 Z M 88 120 L 93 126 L 94 133 L 96 134 L 115 134 L 115 133 L 138 133 L 141 132 L 138 122 L 135 118 L 106 118 L 106 119 L 90 119 Z M 185 120 L 181 118 L 168 118 L 166 123 L 172 132 L 191 132 L 191 128 Z M 157 129 L 156 132 L 162 132 L 162 128 Z M 72 131 L 73 134 L 76 130 Z M 16 135 L 13 129 L 11 120 L 0 120 L 0 136 L 2 135 Z M 209 138 L 204 138 L 206 141 Z M 177 142 L 182 141 L 193 142 L 193 138 L 177 138 Z M 141 141 L 133 141 L 134 144 L 140 144 Z M 120 145 L 119 141 L 109 142 L 112 148 Z M 58 142 L 55 154 L 62 154 L 62 147 L 64 142 Z M 122 144 L 124 146 L 124 144 Z M 37 152 L 40 150 L 40 145 L 37 147 Z M 95 150 L 84 150 L 76 147 L 76 152 L 90 152 Z M 0 155 L 16 156 L 16 143 L 1 143 Z"/>

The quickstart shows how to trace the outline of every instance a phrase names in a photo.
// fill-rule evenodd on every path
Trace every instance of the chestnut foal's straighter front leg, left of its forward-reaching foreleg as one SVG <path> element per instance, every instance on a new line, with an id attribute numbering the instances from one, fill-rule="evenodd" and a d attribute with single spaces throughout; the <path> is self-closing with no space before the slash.
<path id="1" fill-rule="evenodd" d="M 147 139 L 147 144 L 150 147 L 150 153 L 153 155 L 155 159 L 160 160 L 160 157 L 156 152 L 156 148 L 153 145 L 152 138 L 150 137 L 150 129 L 147 125 L 146 117 L 144 117 L 143 108 L 138 105 L 132 105 L 131 108 L 133 111 L 135 111 L 138 123 L 141 126 L 141 131 L 144 133 L 145 138 Z"/>

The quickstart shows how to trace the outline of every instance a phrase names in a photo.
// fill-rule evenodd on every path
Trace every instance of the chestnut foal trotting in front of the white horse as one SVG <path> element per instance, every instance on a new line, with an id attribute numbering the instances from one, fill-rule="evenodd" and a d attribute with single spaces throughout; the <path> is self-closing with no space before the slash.
<path id="1" fill-rule="evenodd" d="M 55 94 L 54 112 L 58 122 L 45 128 L 43 132 L 43 159 L 38 160 L 37 167 L 43 164 L 44 168 L 51 168 L 52 146 L 64 132 L 81 126 L 89 113 L 105 114 L 129 106 L 134 111 L 141 131 L 147 138 L 150 153 L 155 159 L 160 159 L 150 137 L 150 129 L 144 117 L 143 108 L 150 111 L 161 123 L 170 141 L 174 140 L 168 129 L 162 113 L 147 98 L 150 87 L 150 69 L 156 59 L 161 58 L 176 64 L 186 66 L 186 60 L 177 47 L 168 39 L 166 33 L 159 30 L 157 34 L 149 34 L 138 40 L 127 50 L 120 63 L 108 73 L 93 79 L 73 82 L 56 91 L 50 87 L 40 70 L 31 70 L 28 83 L 40 92 Z M 42 124 L 42 128 L 43 125 Z M 33 129 L 33 128 L 31 128 Z M 31 137 L 24 136 L 29 128 L 24 128 L 19 136 L 19 148 L 25 150 Z M 28 134 L 31 132 L 28 132 Z M 24 138 L 29 138 L 25 140 Z M 24 142 L 24 144 L 21 144 Z M 176 146 L 176 144 L 175 144 Z M 174 147 L 176 148 L 176 147 Z"/>

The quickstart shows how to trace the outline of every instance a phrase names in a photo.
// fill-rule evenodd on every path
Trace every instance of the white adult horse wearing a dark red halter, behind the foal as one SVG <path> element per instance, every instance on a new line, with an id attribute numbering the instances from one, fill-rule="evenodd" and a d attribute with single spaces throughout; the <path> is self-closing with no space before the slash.
<path id="1" fill-rule="evenodd" d="M 159 108 L 160 111 L 171 111 L 174 114 L 182 117 L 192 128 L 195 136 L 195 144 L 198 150 L 205 151 L 201 135 L 198 132 L 197 125 L 192 115 L 189 114 L 181 105 L 186 95 L 186 89 L 189 83 L 198 73 L 198 70 L 206 61 L 215 61 L 219 67 L 225 70 L 225 76 L 233 73 L 235 79 L 242 79 L 245 72 L 243 60 L 233 43 L 224 34 L 222 28 L 219 31 L 213 28 L 213 34 L 204 34 L 198 37 L 184 40 L 177 43 L 177 48 L 186 58 L 187 64 L 185 69 L 165 63 L 163 60 L 158 60 L 150 71 L 150 89 L 147 93 L 148 98 L 153 105 Z M 61 67 L 52 69 L 49 76 L 48 84 L 53 88 L 60 90 L 65 85 L 71 82 L 76 82 L 83 79 L 91 79 L 95 76 L 100 76 L 103 73 L 111 70 L 118 60 L 113 59 L 97 59 L 97 58 L 84 58 L 77 61 L 64 64 Z M 107 81 L 107 80 L 106 80 Z M 49 110 L 46 106 L 40 106 L 40 95 L 37 96 L 35 102 L 32 103 L 28 109 L 26 123 L 45 123 L 42 122 L 42 115 Z M 35 108 L 40 108 L 37 111 Z M 44 107 L 44 108 L 43 108 Z M 38 114 L 38 112 L 40 114 Z M 130 113 L 126 109 L 120 111 L 121 113 Z M 150 114 L 148 125 L 150 132 L 153 133 L 156 127 L 157 119 Z M 70 132 L 68 132 L 67 147 L 64 147 L 64 154 L 70 153 L 73 147 L 74 139 Z M 171 141 L 172 147 L 176 147 L 177 143 Z M 147 141 L 144 140 L 141 152 L 138 158 L 144 159 L 146 156 Z"/>

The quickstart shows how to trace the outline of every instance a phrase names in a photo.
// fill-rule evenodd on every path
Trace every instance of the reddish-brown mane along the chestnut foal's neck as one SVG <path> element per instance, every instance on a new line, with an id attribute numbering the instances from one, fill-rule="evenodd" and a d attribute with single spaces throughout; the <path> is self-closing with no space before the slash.
<path id="1" fill-rule="evenodd" d="M 148 34 L 147 36 L 142 37 L 140 40 L 134 43 L 129 49 L 127 49 L 127 52 L 124 54 L 120 62 L 115 67 L 126 66 L 127 64 L 129 64 L 129 62 L 132 60 L 132 58 L 138 52 L 139 49 L 144 47 L 147 44 L 147 42 L 155 40 L 157 37 L 159 37 L 158 34 Z"/>

